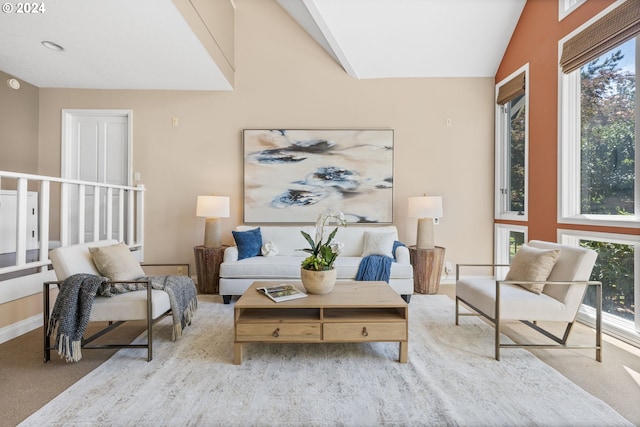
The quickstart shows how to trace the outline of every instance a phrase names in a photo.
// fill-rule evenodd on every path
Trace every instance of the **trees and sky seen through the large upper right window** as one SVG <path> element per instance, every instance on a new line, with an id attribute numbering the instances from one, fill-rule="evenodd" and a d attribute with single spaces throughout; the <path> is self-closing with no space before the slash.
<path id="1" fill-rule="evenodd" d="M 618 67 L 621 51 L 581 69 L 581 209 L 633 215 L 635 74 Z"/>

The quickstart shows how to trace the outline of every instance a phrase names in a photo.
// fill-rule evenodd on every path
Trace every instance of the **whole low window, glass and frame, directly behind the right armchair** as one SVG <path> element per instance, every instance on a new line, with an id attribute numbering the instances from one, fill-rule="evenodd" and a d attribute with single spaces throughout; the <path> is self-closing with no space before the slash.
<path id="1" fill-rule="evenodd" d="M 598 253 L 591 280 L 602 282 L 604 330 L 640 344 L 640 236 L 560 230 L 562 243 L 584 246 Z M 579 319 L 593 323 L 595 289 L 587 291 Z"/>

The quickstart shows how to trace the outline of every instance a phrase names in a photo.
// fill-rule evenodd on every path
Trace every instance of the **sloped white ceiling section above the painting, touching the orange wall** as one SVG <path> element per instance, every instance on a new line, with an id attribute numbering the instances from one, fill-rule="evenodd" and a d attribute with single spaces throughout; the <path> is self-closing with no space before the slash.
<path id="1" fill-rule="evenodd" d="M 351 76 L 493 77 L 526 0 L 277 0 Z"/>

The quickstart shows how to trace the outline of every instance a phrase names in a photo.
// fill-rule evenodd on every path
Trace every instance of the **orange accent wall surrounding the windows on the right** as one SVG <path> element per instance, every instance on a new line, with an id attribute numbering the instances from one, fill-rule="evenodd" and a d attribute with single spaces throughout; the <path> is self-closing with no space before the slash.
<path id="1" fill-rule="evenodd" d="M 631 228 L 557 222 L 558 41 L 612 3 L 589 0 L 558 21 L 558 1 L 528 0 L 496 73 L 498 83 L 529 64 L 529 239 L 556 241 L 558 228 L 638 234 Z"/>

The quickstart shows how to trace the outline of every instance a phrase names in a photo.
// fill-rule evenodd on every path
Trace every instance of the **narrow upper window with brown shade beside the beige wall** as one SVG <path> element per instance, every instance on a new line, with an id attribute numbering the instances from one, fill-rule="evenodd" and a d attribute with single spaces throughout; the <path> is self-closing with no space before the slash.
<path id="1" fill-rule="evenodd" d="M 497 219 L 527 219 L 527 70 L 523 67 L 496 86 Z"/>

